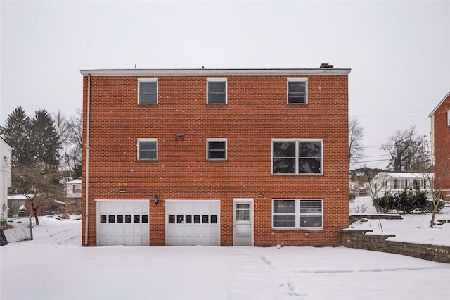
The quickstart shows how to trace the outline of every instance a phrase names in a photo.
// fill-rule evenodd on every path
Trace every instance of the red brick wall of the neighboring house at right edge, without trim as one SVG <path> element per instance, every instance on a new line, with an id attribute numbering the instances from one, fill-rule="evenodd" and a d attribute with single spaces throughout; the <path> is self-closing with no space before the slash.
<path id="1" fill-rule="evenodd" d="M 436 182 L 439 182 L 439 177 L 445 172 L 447 173 L 442 189 L 450 189 L 450 127 L 447 127 L 447 111 L 449 109 L 450 96 L 447 96 L 434 114 Z"/>

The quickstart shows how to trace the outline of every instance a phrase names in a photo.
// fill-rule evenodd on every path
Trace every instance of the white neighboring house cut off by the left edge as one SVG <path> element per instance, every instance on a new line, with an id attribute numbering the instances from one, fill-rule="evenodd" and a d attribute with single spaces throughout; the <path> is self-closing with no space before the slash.
<path id="1" fill-rule="evenodd" d="M 0 221 L 8 218 L 8 187 L 11 187 L 11 151 L 13 148 L 0 137 Z"/>

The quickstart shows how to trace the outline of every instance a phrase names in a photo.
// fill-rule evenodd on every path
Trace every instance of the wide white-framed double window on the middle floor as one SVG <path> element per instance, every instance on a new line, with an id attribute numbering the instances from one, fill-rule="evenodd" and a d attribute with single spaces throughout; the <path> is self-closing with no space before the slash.
<path id="1" fill-rule="evenodd" d="M 272 139 L 272 174 L 323 174 L 322 139 Z"/>

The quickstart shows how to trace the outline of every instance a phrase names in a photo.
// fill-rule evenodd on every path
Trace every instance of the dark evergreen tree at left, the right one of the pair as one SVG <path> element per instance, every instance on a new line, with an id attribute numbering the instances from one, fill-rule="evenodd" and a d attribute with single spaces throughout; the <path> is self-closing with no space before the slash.
<path id="1" fill-rule="evenodd" d="M 60 139 L 51 116 L 45 109 L 37 111 L 31 120 L 31 125 L 30 144 L 35 161 L 58 166 Z"/>

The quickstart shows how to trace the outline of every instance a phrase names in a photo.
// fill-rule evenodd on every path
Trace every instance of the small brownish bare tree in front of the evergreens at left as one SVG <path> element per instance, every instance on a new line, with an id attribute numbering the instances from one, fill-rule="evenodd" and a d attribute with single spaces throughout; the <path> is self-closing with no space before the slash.
<path id="1" fill-rule="evenodd" d="M 11 188 L 15 193 L 25 196 L 34 214 L 36 225 L 39 225 L 39 209 L 42 210 L 53 200 L 63 199 L 63 185 L 60 185 L 59 180 L 58 168 L 46 163 L 34 163 L 12 169 Z"/>

